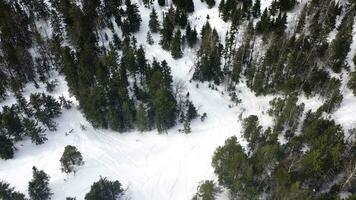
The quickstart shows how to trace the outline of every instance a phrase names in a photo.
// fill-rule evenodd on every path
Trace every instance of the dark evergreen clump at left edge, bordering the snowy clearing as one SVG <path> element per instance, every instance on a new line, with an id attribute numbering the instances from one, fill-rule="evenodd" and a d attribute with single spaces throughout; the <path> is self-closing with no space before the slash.
<path id="1" fill-rule="evenodd" d="M 17 103 L 11 107 L 3 106 L 0 112 L 0 158 L 10 159 L 14 155 L 14 144 L 24 137 L 29 137 L 36 144 L 44 143 L 47 138 L 46 128 L 56 130 L 54 118 L 61 114 L 62 106 L 69 101 L 62 97 L 62 102 L 45 93 L 33 93 L 27 101 L 20 93 L 16 94 Z"/>

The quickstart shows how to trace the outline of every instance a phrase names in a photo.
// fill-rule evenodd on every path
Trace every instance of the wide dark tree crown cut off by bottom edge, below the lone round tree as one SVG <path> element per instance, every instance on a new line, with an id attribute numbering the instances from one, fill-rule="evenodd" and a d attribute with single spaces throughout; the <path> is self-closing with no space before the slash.
<path id="1" fill-rule="evenodd" d="M 119 200 L 123 199 L 124 190 L 119 181 L 109 181 L 100 177 L 94 182 L 90 191 L 85 195 L 85 200 Z"/>

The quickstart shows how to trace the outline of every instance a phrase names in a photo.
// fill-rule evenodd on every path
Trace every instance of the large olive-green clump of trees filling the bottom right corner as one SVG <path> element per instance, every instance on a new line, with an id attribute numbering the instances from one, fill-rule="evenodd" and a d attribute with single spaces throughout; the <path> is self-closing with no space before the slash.
<path id="1" fill-rule="evenodd" d="M 280 134 L 263 130 L 257 116 L 246 118 L 242 136 L 248 148 L 233 136 L 214 153 L 219 184 L 243 199 L 337 199 L 355 192 L 349 170 L 356 164 L 354 141 L 344 140 L 340 125 L 309 111 L 300 135 L 280 144 Z"/>

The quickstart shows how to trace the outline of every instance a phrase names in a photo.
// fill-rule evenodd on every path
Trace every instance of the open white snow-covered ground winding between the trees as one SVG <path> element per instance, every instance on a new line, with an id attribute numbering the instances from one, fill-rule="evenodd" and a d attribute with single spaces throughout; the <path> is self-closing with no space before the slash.
<path id="1" fill-rule="evenodd" d="M 224 36 L 229 24 L 218 17 L 217 5 L 213 9 L 200 1 L 194 1 L 195 12 L 189 18 L 198 31 L 206 21 L 216 27 L 220 36 Z M 268 1 L 262 1 L 266 7 Z M 161 8 L 156 6 L 159 14 Z M 239 115 L 246 117 L 251 114 L 259 116 L 263 126 L 270 126 L 272 119 L 266 114 L 272 96 L 256 97 L 243 83 L 237 86 L 238 98 L 242 102 L 229 108 L 232 104 L 229 96 L 223 92 L 212 90 L 207 83 L 190 82 L 195 59 L 194 49 L 186 49 L 182 59 L 174 60 L 170 53 L 158 45 L 159 35 L 153 35 L 155 44 L 146 45 L 147 24 L 150 9 L 140 6 L 143 19 L 141 31 L 136 34 L 137 41 L 144 44 L 148 59 L 156 57 L 166 59 L 171 66 L 175 80 L 183 80 L 190 92 L 190 98 L 199 108 L 199 113 L 206 112 L 208 118 L 201 122 L 192 122 L 192 133 L 179 133 L 181 125 L 169 130 L 168 134 L 158 134 L 156 131 L 120 134 L 109 130 L 95 130 L 86 121 L 80 111 L 73 107 L 64 110 L 61 117 L 56 119 L 58 130 L 48 132 L 48 141 L 40 146 L 31 144 L 29 140 L 18 143 L 19 150 L 11 160 L 0 160 L 0 179 L 6 180 L 17 190 L 27 194 L 28 181 L 32 178 L 32 166 L 44 170 L 49 176 L 50 187 L 54 193 L 53 199 L 77 197 L 83 199 L 90 185 L 99 176 L 110 180 L 119 180 L 127 188 L 127 196 L 136 200 L 183 200 L 191 199 L 196 192 L 199 182 L 205 179 L 216 179 L 211 158 L 214 150 L 232 136 L 239 137 L 241 122 Z M 222 38 L 223 40 L 223 38 Z M 223 42 L 222 42 L 223 43 Z M 68 88 L 63 77 L 57 77 L 59 86 L 55 96 L 69 96 Z M 42 91 L 44 86 L 35 89 L 28 85 L 25 96 L 34 91 Z M 345 96 L 342 107 L 335 118 L 345 127 L 352 127 L 356 121 L 352 113 L 356 112 L 356 99 L 350 94 Z M 321 103 L 318 99 L 301 100 L 307 109 L 316 109 Z M 2 105 L 9 105 L 15 99 L 9 97 Z M 264 113 L 264 114 L 263 114 Z M 83 128 L 84 127 L 84 128 Z M 68 133 L 70 130 L 72 133 Z M 82 153 L 85 164 L 75 175 L 66 175 L 60 170 L 59 159 L 66 145 L 74 145 Z"/>

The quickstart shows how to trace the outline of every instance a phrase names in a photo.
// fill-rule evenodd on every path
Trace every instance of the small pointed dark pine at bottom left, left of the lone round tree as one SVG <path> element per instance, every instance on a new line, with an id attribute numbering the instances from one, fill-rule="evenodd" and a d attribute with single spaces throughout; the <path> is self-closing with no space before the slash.
<path id="1" fill-rule="evenodd" d="M 28 183 L 28 194 L 31 200 L 49 200 L 52 193 L 49 188 L 49 176 L 36 167 L 32 168 L 33 177 Z"/>

